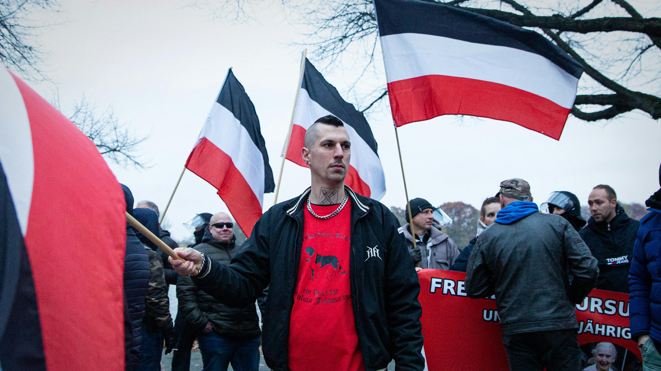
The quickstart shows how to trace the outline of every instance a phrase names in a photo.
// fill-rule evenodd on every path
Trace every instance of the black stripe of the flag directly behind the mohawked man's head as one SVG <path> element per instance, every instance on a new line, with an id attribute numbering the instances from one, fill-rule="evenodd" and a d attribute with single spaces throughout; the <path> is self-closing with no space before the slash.
<path id="1" fill-rule="evenodd" d="M 379 156 L 368 120 L 352 104 L 342 99 L 335 86 L 329 84 L 307 58 L 305 58 L 305 72 L 303 73 L 301 88 L 305 89 L 310 98 L 317 102 L 319 106 L 351 125 L 368 144 L 369 148 Z"/>

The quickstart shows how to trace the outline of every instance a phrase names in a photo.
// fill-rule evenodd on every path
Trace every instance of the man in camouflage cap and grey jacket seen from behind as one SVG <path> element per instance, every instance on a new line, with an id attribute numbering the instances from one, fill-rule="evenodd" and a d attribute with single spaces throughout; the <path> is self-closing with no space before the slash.
<path id="1" fill-rule="evenodd" d="M 594 287 L 597 259 L 566 219 L 539 213 L 525 180 L 496 195 L 502 209 L 471 253 L 466 292 L 495 294 L 510 370 L 580 370 L 574 304 Z"/>

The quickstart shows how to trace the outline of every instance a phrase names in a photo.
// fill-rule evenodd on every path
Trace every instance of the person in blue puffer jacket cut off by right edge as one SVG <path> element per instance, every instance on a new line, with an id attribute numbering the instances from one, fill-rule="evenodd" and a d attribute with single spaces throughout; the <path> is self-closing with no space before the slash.
<path id="1" fill-rule="evenodd" d="M 641 220 L 629 271 L 629 324 L 642 369 L 652 371 L 661 370 L 661 189 L 645 205 L 650 213 Z"/>

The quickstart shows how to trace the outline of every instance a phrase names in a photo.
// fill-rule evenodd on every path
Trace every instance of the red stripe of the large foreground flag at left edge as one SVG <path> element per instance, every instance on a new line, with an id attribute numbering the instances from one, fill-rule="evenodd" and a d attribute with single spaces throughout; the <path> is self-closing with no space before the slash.
<path id="1" fill-rule="evenodd" d="M 13 77 L 32 133 L 34 186 L 25 245 L 46 368 L 122 371 L 124 193 L 85 134 Z"/>

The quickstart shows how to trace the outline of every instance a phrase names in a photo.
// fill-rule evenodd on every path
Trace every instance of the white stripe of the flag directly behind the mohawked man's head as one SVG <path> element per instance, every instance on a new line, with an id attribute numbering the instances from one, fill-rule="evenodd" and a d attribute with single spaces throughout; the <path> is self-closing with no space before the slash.
<path id="1" fill-rule="evenodd" d="M 307 130 L 318 118 L 331 115 L 332 112 L 327 111 L 310 98 L 307 90 L 301 88 L 298 94 L 298 102 L 296 104 L 296 112 L 293 116 L 293 123 L 303 127 Z M 344 123 L 346 131 L 349 133 L 351 141 L 351 159 L 349 164 L 356 168 L 358 176 L 369 186 L 369 196 L 372 199 L 381 199 L 385 194 L 385 176 L 383 175 L 383 167 L 381 160 L 374 151 L 369 148 L 369 145 L 356 133 L 356 130 L 351 127 L 349 123 Z"/>

